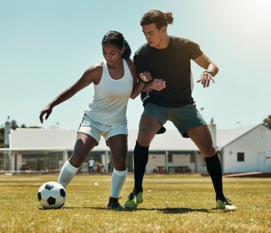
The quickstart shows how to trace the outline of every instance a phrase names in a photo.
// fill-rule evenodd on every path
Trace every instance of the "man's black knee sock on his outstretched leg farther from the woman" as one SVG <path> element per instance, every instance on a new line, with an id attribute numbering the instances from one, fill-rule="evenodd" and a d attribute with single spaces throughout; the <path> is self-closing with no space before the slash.
<path id="1" fill-rule="evenodd" d="M 221 169 L 221 164 L 218 158 L 217 153 L 209 158 L 206 159 L 206 166 L 207 166 L 207 171 L 209 172 L 211 176 L 211 180 L 213 183 L 213 187 L 215 190 L 215 196 L 216 200 L 223 198 L 223 188 L 222 188 L 222 169 Z"/>

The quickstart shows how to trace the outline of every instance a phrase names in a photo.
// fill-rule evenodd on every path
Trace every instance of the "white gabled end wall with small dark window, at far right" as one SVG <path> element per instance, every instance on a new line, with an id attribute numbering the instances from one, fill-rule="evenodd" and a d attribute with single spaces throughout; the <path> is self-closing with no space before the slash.
<path id="1" fill-rule="evenodd" d="M 237 152 L 244 152 L 244 162 L 237 161 Z M 258 153 L 264 154 L 259 160 Z M 259 125 L 223 149 L 224 172 L 271 172 L 270 157 L 271 130 Z"/>

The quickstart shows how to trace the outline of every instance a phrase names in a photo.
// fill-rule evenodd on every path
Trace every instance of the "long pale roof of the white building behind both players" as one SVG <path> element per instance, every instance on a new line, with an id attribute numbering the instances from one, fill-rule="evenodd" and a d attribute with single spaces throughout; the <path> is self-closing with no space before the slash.
<path id="1" fill-rule="evenodd" d="M 218 130 L 217 146 L 222 149 L 229 143 L 235 141 L 245 133 L 250 132 L 256 127 L 252 125 L 231 130 Z M 138 130 L 129 130 L 128 150 L 133 151 Z M 73 150 L 75 145 L 77 130 L 62 129 L 22 129 L 11 130 L 10 148 L 12 149 L 46 149 L 46 148 L 66 148 Z M 101 137 L 100 143 L 93 149 L 94 151 L 109 150 Z M 190 138 L 183 138 L 177 130 L 167 130 L 164 134 L 154 137 L 151 142 L 150 150 L 177 150 L 177 151 L 198 151 L 196 145 Z"/>

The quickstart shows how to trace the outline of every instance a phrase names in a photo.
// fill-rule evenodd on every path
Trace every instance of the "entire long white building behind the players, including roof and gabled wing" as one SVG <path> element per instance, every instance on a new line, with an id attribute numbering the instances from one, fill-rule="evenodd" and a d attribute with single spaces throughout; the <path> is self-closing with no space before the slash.
<path id="1" fill-rule="evenodd" d="M 232 130 L 215 131 L 209 126 L 220 156 L 224 173 L 271 172 L 271 130 L 262 124 Z M 52 170 L 60 169 L 72 154 L 76 130 L 16 129 L 9 133 L 9 164 L 1 163 L 0 170 Z M 216 137 L 215 137 L 216 135 Z M 133 170 L 133 150 L 137 130 L 128 137 L 128 169 Z M 205 159 L 191 139 L 182 138 L 177 130 L 167 130 L 156 135 L 151 142 L 146 172 L 207 172 Z M 3 158 L 7 151 L 2 149 Z M 1 150 L 0 150 L 1 152 Z M 105 140 L 91 151 L 96 162 L 113 169 L 109 148 Z M 6 156 L 6 157 L 4 157 Z M 87 158 L 88 160 L 88 158 Z M 82 171 L 87 171 L 87 160 Z M 4 161 L 4 159 L 2 159 Z M 2 164 L 2 165 L 1 165 Z"/>

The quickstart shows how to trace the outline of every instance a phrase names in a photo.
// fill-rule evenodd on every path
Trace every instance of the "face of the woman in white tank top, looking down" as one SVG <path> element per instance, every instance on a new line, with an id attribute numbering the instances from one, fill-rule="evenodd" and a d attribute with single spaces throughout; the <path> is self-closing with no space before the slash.
<path id="1" fill-rule="evenodd" d="M 121 59 L 121 54 L 124 52 L 124 47 L 120 50 L 115 45 L 103 44 L 103 55 L 108 65 L 114 65 Z"/>

